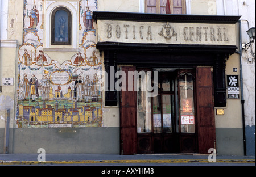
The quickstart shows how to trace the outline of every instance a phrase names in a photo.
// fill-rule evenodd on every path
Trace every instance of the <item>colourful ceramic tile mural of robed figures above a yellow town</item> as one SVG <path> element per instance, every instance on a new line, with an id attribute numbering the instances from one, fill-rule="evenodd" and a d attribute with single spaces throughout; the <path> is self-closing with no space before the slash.
<path id="1" fill-rule="evenodd" d="M 97 1 L 74 2 L 80 7 L 79 52 L 60 63 L 43 48 L 47 1 L 24 0 L 23 45 L 18 51 L 17 127 L 102 126 L 102 62 L 96 50 L 92 19 Z M 55 58 L 57 55 L 58 52 Z"/>

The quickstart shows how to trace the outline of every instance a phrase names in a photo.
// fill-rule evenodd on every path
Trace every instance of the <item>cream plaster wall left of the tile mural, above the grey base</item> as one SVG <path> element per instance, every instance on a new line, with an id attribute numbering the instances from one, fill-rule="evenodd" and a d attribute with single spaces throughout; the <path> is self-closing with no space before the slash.
<path id="1" fill-rule="evenodd" d="M 23 5 L 22 1 L 15 4 L 14 1 L 0 0 L 0 86 L 2 86 L 2 78 L 13 78 L 13 86 L 2 86 L 0 92 L 0 128 L 5 127 L 5 119 L 7 117 L 6 109 L 10 109 L 10 127 L 14 123 L 14 100 L 15 100 L 15 60 L 16 60 L 16 47 L 18 41 L 22 39 L 22 35 L 17 37 L 15 32 L 18 32 L 19 25 L 22 23 L 19 18 L 22 14 L 22 9 L 19 7 Z M 10 12 L 10 9 L 13 11 Z M 13 24 L 10 24 L 11 19 Z M 22 30 L 21 30 L 22 34 Z"/>

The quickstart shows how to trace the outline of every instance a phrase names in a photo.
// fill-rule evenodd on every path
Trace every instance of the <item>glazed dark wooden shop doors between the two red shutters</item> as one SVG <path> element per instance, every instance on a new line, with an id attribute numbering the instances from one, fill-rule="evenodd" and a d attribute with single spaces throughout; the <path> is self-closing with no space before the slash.
<path id="1" fill-rule="evenodd" d="M 194 73 L 171 70 L 158 72 L 154 97 L 137 91 L 138 153 L 196 152 Z"/>

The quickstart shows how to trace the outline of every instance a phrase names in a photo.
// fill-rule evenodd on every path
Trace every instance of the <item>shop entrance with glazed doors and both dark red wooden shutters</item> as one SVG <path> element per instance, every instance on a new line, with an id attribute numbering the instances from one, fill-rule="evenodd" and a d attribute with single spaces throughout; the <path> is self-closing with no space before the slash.
<path id="1" fill-rule="evenodd" d="M 136 68 L 123 67 L 122 70 L 128 73 Z M 198 70 L 204 74 L 202 77 Z M 197 77 L 202 83 L 196 82 Z M 212 94 L 208 92 L 206 96 L 210 97 L 203 98 L 209 115 L 202 114 L 206 107 L 197 104 L 197 97 L 203 93 L 200 89 L 207 88 L 203 82 L 212 79 L 210 68 L 159 71 L 158 91 L 152 96 L 152 90 L 145 87 L 147 82 L 156 84 L 154 79 L 139 77 L 139 82 L 133 82 L 138 84 L 138 90 L 120 92 L 121 154 L 205 153 L 208 147 L 214 147 Z M 212 88 L 211 82 L 209 88 Z M 209 127 L 204 125 L 204 119 L 211 120 Z"/>

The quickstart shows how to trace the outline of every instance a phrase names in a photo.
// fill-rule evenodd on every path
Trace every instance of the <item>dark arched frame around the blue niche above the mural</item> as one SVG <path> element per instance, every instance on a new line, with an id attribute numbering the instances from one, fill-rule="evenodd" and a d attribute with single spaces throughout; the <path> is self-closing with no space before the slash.
<path id="1" fill-rule="evenodd" d="M 55 14 L 59 10 L 64 10 L 68 14 L 68 41 L 67 42 L 55 42 Z M 71 45 L 71 33 L 72 33 L 72 15 L 66 7 L 57 7 L 52 11 L 51 15 L 51 45 Z"/>

